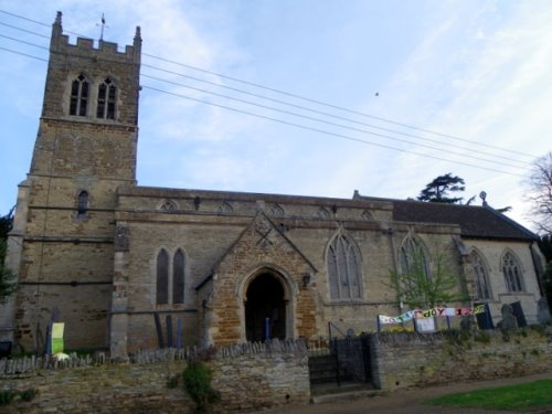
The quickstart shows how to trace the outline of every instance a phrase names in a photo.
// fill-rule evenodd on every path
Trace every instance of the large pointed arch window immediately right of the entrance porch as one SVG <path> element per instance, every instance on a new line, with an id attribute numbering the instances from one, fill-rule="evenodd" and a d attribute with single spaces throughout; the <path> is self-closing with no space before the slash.
<path id="1" fill-rule="evenodd" d="M 332 299 L 362 298 L 360 252 L 344 234 L 333 237 L 327 253 L 328 279 Z"/>

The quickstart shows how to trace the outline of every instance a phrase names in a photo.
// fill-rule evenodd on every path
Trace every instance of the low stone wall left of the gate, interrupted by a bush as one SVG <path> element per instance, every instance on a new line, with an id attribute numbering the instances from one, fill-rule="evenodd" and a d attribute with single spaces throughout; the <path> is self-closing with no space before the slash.
<path id="1" fill-rule="evenodd" d="M 14 401 L 2 413 L 193 413 L 194 404 L 180 376 L 185 353 L 146 354 L 135 362 L 77 361 L 85 367 L 34 369 L 20 363 L 2 369 L 0 391 L 38 390 L 30 402 Z M 159 362 L 159 360 L 163 360 Z M 44 364 L 40 361 L 38 365 Z M 307 403 L 310 397 L 305 344 L 273 341 L 221 349 L 208 362 L 213 389 L 221 393 L 217 413 L 257 411 L 283 404 Z M 36 367 L 36 363 L 34 363 Z M 4 374 L 4 371 L 18 373 Z"/>

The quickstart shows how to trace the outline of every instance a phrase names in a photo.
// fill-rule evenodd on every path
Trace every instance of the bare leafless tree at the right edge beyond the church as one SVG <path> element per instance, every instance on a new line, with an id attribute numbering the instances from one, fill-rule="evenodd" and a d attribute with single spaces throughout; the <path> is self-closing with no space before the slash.
<path id="1" fill-rule="evenodd" d="M 552 234 L 552 152 L 534 160 L 528 190 L 532 222 L 539 233 Z"/>

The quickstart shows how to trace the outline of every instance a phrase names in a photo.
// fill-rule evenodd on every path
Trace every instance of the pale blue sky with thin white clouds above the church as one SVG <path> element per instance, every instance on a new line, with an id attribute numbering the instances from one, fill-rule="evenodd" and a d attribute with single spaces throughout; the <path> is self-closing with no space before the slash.
<path id="1" fill-rule="evenodd" d="M 530 226 L 552 146 L 550 1 L 0 2 L 0 214 L 29 172 L 51 24 L 144 39 L 138 182 L 406 199 L 466 181 Z M 479 203 L 480 200 L 478 199 Z"/>

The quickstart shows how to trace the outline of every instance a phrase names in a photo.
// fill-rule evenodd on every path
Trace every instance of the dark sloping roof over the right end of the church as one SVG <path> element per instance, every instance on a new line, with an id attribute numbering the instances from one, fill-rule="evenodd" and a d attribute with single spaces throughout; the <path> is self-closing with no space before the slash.
<path id="1" fill-rule="evenodd" d="M 534 241 L 537 235 L 490 206 L 393 200 L 393 220 L 458 224 L 464 237 Z"/>

